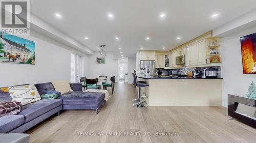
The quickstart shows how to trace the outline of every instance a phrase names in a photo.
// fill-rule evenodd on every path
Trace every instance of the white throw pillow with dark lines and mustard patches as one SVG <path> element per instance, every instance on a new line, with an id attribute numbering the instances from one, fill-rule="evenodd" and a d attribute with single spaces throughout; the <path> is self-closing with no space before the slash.
<path id="1" fill-rule="evenodd" d="M 9 87 L 9 93 L 11 95 L 12 101 L 21 102 L 22 105 L 26 105 L 38 100 L 41 97 L 35 88 L 35 85 L 19 85 L 14 87 Z"/>

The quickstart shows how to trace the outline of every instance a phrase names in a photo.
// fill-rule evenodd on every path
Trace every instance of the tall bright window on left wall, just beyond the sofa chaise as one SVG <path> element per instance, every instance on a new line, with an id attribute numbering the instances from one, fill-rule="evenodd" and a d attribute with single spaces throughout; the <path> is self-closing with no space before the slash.
<path id="1" fill-rule="evenodd" d="M 71 51 L 70 55 L 71 83 L 80 82 L 81 77 L 81 56 Z"/>

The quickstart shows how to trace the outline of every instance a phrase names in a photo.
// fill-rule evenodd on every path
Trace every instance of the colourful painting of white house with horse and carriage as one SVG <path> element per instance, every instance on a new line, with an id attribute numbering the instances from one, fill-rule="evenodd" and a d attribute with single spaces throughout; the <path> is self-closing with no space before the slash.
<path id="1" fill-rule="evenodd" d="M 0 62 L 35 64 L 35 42 L 1 33 Z"/>

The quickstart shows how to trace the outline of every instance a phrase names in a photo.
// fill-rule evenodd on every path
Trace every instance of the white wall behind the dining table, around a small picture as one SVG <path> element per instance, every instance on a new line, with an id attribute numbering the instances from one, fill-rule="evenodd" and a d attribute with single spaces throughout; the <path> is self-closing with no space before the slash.
<path id="1" fill-rule="evenodd" d="M 113 53 L 107 52 L 105 56 L 105 64 L 97 64 L 96 58 L 102 57 L 99 52 L 95 52 L 93 55 L 88 56 L 85 60 L 86 66 L 84 67 L 84 76 L 87 78 L 98 78 L 99 76 L 111 77 L 115 75 L 118 77 L 118 62 L 113 60 Z M 117 79 L 116 79 L 117 81 Z M 110 79 L 108 80 L 110 82 Z"/>

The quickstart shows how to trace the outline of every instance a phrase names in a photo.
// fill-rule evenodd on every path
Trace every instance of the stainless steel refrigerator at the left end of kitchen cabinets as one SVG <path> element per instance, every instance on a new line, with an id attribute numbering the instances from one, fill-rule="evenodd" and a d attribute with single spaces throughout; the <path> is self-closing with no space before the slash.
<path id="1" fill-rule="evenodd" d="M 155 61 L 140 61 L 140 74 L 145 76 L 156 75 Z"/>

